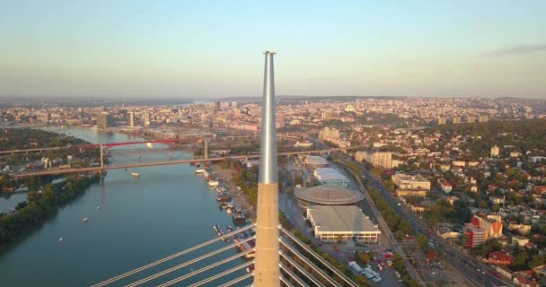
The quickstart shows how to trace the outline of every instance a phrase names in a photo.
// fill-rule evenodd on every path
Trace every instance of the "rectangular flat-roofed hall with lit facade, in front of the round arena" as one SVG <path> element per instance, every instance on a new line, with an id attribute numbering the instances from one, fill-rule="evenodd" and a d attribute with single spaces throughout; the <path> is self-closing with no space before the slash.
<path id="1" fill-rule="evenodd" d="M 313 227 L 315 239 L 324 243 L 355 239 L 371 244 L 379 242 L 381 231 L 357 206 L 312 206 L 306 219 Z"/>

